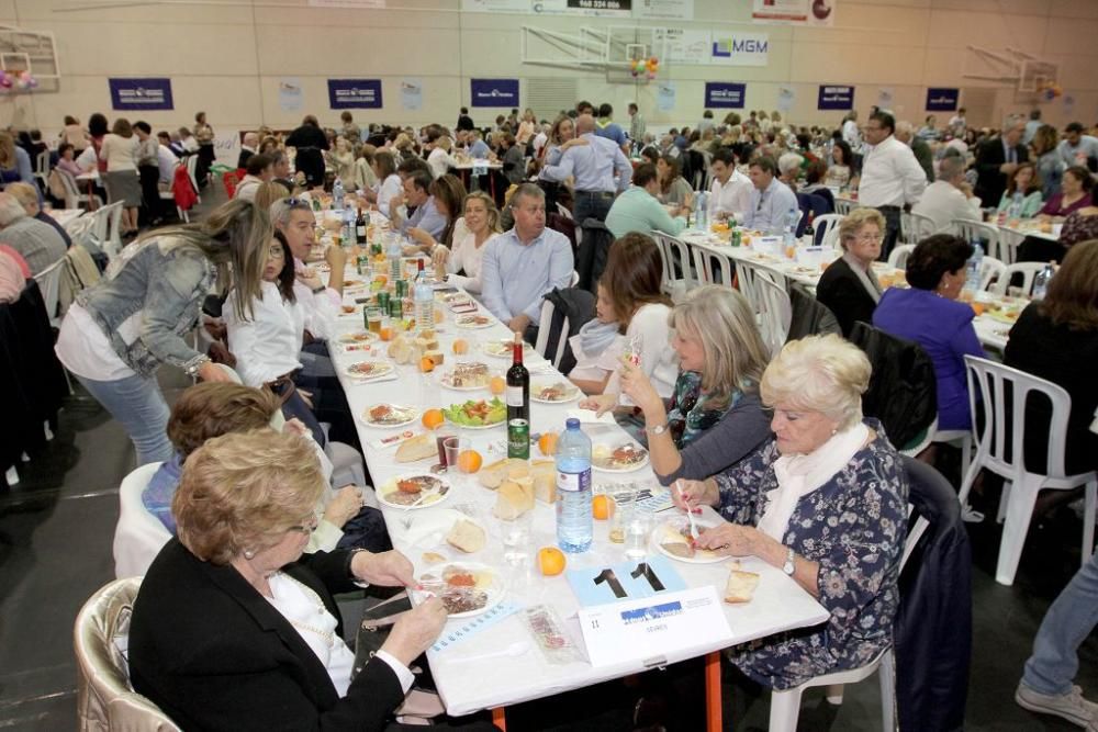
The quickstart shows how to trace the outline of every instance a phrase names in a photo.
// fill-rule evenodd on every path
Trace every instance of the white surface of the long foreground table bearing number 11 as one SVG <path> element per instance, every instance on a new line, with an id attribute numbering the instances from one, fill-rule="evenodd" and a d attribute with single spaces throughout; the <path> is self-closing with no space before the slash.
<path id="1" fill-rule="evenodd" d="M 345 279 L 356 279 L 356 275 L 350 272 L 351 270 L 348 268 Z M 352 303 L 356 296 L 362 295 L 360 292 L 347 293 L 346 302 Z M 438 381 L 439 372 L 446 371 L 451 365 L 455 358 L 451 346 L 453 340 L 460 337 L 470 345 L 469 358 L 482 360 L 491 364 L 494 372 L 504 373 L 509 365 L 509 360 L 483 356 L 480 353 L 480 345 L 490 339 L 509 338 L 511 331 L 498 322 L 494 322 L 490 328 L 481 330 L 458 328 L 449 311 L 441 304 L 437 306 L 442 307 L 447 314 L 445 322 L 439 324 L 437 328 L 441 350 L 446 354 L 446 362 L 433 374 L 425 376 L 419 373 L 417 367 L 399 365 L 396 367 L 399 374 L 396 381 L 366 384 L 356 382 L 349 379 L 344 371 L 349 363 L 363 360 L 363 358 L 384 357 L 366 357 L 362 352 L 344 353 L 338 345 L 332 344 L 333 361 L 339 371 L 340 382 L 346 390 L 348 402 L 356 417 L 379 403 L 397 403 L 425 408 L 448 406 L 469 398 L 491 398 L 486 388 L 479 392 L 459 392 L 442 386 Z M 482 313 L 486 314 L 486 311 L 482 311 Z M 362 319 L 359 313 L 354 316 L 340 317 L 339 322 L 343 331 L 361 329 Z M 551 367 L 548 367 L 540 357 L 527 358 L 526 361 L 527 367 L 531 370 L 531 384 L 563 379 L 556 371 L 552 371 Z M 562 430 L 568 410 L 576 408 L 576 404 L 578 402 L 564 405 L 531 403 L 530 432 L 536 433 L 549 429 Z M 394 449 L 379 449 L 374 446 L 374 441 L 382 436 L 400 430 L 376 429 L 366 426 L 361 420 L 358 424 L 359 438 L 376 485 L 383 485 L 400 474 L 426 471 L 436 462 L 436 459 L 433 458 L 416 463 L 397 463 Z M 422 426 L 416 423 L 401 429 L 413 428 L 422 429 Z M 444 429 L 448 428 L 450 425 L 444 427 Z M 596 444 L 620 442 L 628 439 L 616 425 L 585 426 L 584 431 Z M 484 457 L 484 464 L 506 457 L 503 446 L 505 428 L 502 426 L 488 430 L 457 429 L 455 433 L 469 439 L 471 447 Z M 530 457 L 541 457 L 537 446 L 531 446 Z M 582 647 L 582 637 L 579 622 L 575 619 L 579 605 L 564 575 L 542 577 L 540 572 L 534 567 L 526 572 L 508 567 L 503 561 L 502 541 L 491 513 L 495 503 L 495 493 L 482 487 L 475 476 L 453 475 L 451 473 L 449 477 L 453 483 L 451 493 L 445 502 L 436 506 L 411 511 L 382 507 L 393 544 L 412 560 L 416 566 L 417 575 L 426 570 L 423 553 L 428 550 L 439 552 L 449 560 L 481 562 L 497 567 L 501 576 L 507 583 L 507 599 L 524 606 L 536 604 L 552 606 L 560 618 L 564 619 L 573 641 Z M 594 472 L 596 491 L 607 483 L 624 481 L 645 483 L 653 488 L 658 487 L 651 469 L 647 466 L 628 474 L 608 474 L 597 470 Z M 457 509 L 471 517 L 472 520 L 488 530 L 489 541 L 483 550 L 473 554 L 462 554 L 446 544 L 445 541 L 430 543 L 430 545 L 408 543 L 408 533 L 415 532 L 417 521 L 426 520 L 424 517 L 428 514 L 438 514 L 450 509 Z M 657 516 L 670 518 L 675 513 L 675 509 L 671 509 Z M 556 518 L 552 507 L 538 503 L 533 521 L 531 556 L 538 548 L 556 544 L 554 527 Z M 620 562 L 623 559 L 620 545 L 610 544 L 607 539 L 607 523 L 595 521 L 593 549 L 583 554 L 569 555 L 568 562 L 569 566 L 574 568 L 606 566 Z M 718 589 L 718 594 L 724 589 L 728 577 L 727 561 L 709 565 L 676 562 L 674 565 L 688 586 L 712 585 Z M 814 626 L 827 619 L 827 611 L 780 570 L 753 558 L 743 560 L 743 568 L 759 572 L 762 578 L 751 603 L 742 606 L 724 605 L 735 642 L 746 642 L 783 630 Z M 467 621 L 451 620 L 445 632 L 452 632 L 464 622 Z M 481 709 L 498 709 L 507 705 L 646 671 L 642 664 L 632 662 L 598 668 L 586 662 L 550 665 L 533 642 L 529 644 L 529 650 L 518 656 L 495 657 L 468 663 L 458 661 L 458 658 L 470 655 L 479 656 L 494 651 L 504 651 L 514 642 L 529 641 L 529 634 L 517 615 L 507 617 L 490 629 L 481 631 L 475 639 L 475 641 L 464 640 L 440 652 L 428 652 L 435 682 L 450 714 L 467 714 Z M 706 638 L 704 632 L 699 632 L 695 643 L 692 643 L 690 647 L 683 647 L 679 653 L 668 654 L 665 662 L 674 663 L 697 657 L 719 651 L 727 643 L 715 644 Z M 719 718 L 719 677 L 715 688 L 718 697 Z"/>

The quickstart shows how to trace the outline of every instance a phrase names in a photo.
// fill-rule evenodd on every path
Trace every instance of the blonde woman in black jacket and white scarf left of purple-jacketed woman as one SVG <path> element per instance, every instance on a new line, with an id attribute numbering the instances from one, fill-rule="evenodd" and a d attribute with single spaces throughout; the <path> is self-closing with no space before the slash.
<path id="1" fill-rule="evenodd" d="M 843 255 L 831 262 L 816 285 L 816 299 L 839 320 L 842 335 L 858 322 L 872 323 L 881 301 L 881 283 L 873 262 L 881 256 L 885 217 L 876 209 L 854 209 L 839 224 Z"/>

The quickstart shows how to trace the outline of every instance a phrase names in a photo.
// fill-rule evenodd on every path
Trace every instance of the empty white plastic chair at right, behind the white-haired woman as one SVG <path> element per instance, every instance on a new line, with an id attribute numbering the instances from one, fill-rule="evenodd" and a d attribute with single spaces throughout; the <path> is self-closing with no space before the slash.
<path id="1" fill-rule="evenodd" d="M 1057 384 L 1024 373 L 1018 369 L 995 363 L 987 359 L 965 356 L 968 376 L 968 409 L 973 424 L 976 421 L 976 405 L 983 399 L 985 419 L 983 428 L 977 428 L 976 455 L 961 484 L 957 496 L 961 505 L 966 505 L 968 491 L 981 469 L 1001 475 L 1006 481 L 999 503 L 999 516 L 1006 518 L 1002 540 L 999 542 L 999 561 L 995 570 L 995 581 L 1011 585 L 1018 562 L 1021 559 L 1026 533 L 1033 515 L 1033 504 L 1040 491 L 1067 491 L 1086 485 L 1086 514 L 1083 517 L 1083 564 L 1094 551 L 1095 518 L 1098 508 L 1098 475 L 1095 472 L 1067 475 L 1064 471 L 1064 443 L 1067 432 L 1067 416 L 1072 410 L 1072 397 Z M 1011 394 L 1011 410 L 1007 413 L 1006 392 Z M 1024 444 L 1026 405 L 1029 398 L 1046 399 L 1052 406 L 1049 424 L 1047 473 L 1031 473 L 1026 470 Z M 1007 443 L 1007 429 L 1010 443 Z M 1008 458 L 1009 448 L 1009 458 Z"/>

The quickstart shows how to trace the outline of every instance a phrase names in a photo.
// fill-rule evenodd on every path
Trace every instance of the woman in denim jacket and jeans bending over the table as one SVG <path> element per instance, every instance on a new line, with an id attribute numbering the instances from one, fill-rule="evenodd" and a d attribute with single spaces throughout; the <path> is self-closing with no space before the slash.
<path id="1" fill-rule="evenodd" d="M 254 272 L 243 279 L 255 283 L 258 296 L 271 230 L 267 212 L 247 201 L 229 201 L 200 224 L 161 228 L 126 247 L 65 316 L 57 358 L 122 423 L 138 465 L 172 454 L 168 405 L 156 380 L 161 363 L 227 381 L 186 335 L 214 285 L 228 290 L 229 269 Z"/>

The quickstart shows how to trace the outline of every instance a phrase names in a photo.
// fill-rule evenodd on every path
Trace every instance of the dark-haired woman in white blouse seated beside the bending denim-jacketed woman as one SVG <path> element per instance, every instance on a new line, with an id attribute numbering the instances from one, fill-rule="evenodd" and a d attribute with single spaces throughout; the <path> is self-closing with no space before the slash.
<path id="1" fill-rule="evenodd" d="M 262 278 L 259 299 L 251 303 L 250 318 L 238 315 L 242 308 L 228 307 L 224 311 L 228 350 L 236 357 L 236 371 L 244 383 L 270 387 L 284 399 L 283 416 L 303 421 L 317 443 L 323 446 L 326 439 L 307 398 L 311 395 L 298 390 L 293 378 L 302 368 L 300 353 L 305 328 L 326 329 L 313 324 L 312 319 L 328 317 L 328 314 L 320 309 L 310 311 L 298 302 L 293 291 L 293 256 L 281 232 L 274 232 L 271 239 Z M 234 289 L 229 299 L 239 296 L 239 289 Z M 317 299 L 316 302 L 327 300 Z M 334 313 L 330 316 L 334 317 Z"/>

